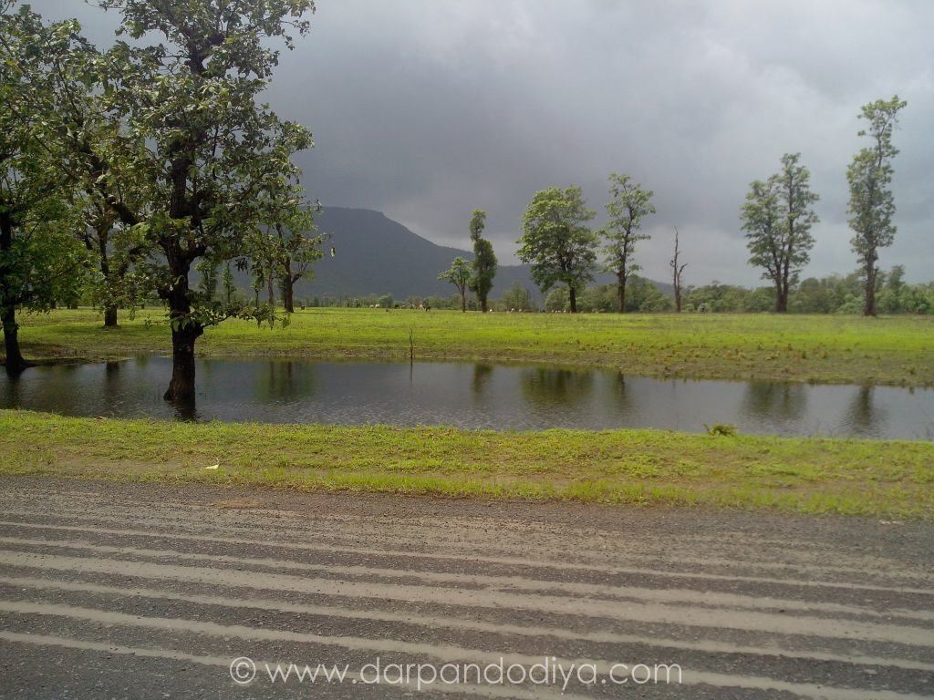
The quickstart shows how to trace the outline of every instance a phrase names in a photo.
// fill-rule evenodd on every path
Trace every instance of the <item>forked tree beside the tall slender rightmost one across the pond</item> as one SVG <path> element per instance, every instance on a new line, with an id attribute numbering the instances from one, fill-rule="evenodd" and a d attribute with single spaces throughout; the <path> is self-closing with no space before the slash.
<path id="1" fill-rule="evenodd" d="M 800 153 L 785 153 L 782 170 L 750 186 L 740 210 L 750 264 L 765 268 L 763 279 L 775 287 L 775 311 L 788 310 L 788 294 L 814 247 L 811 227 L 819 221 L 812 206 L 811 173 L 799 164 Z"/>

